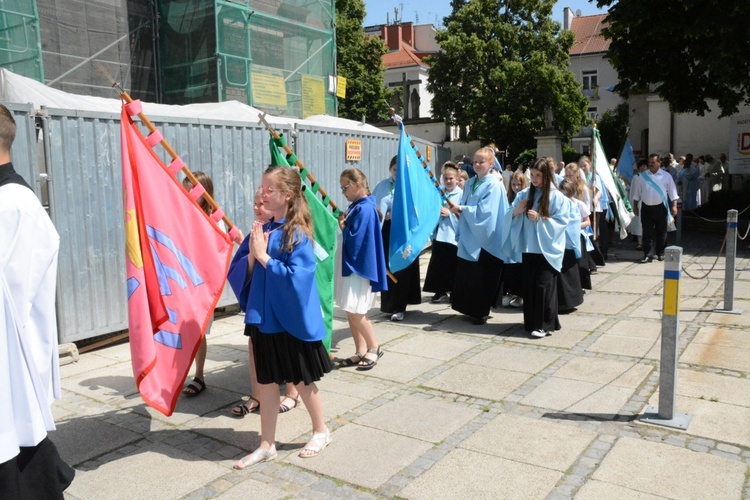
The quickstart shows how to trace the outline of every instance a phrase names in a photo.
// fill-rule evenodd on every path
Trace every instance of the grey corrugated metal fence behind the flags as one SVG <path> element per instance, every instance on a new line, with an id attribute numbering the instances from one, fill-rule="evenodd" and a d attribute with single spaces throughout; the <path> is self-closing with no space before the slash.
<path id="1" fill-rule="evenodd" d="M 49 210 L 60 233 L 57 287 L 59 340 L 74 342 L 127 329 L 124 219 L 120 163 L 120 115 L 11 104 L 18 124 L 14 166 L 44 199 L 40 165 L 49 175 Z M 191 170 L 214 181 L 215 198 L 227 216 L 247 233 L 253 196 L 270 164 L 269 135 L 261 125 L 231 121 L 149 117 Z M 42 126 L 43 161 L 35 122 Z M 388 174 L 398 137 L 310 125 L 275 126 L 295 137 L 290 144 L 321 186 L 342 208 L 339 174 L 356 166 L 374 186 Z M 147 131 L 142 130 L 144 135 Z M 347 162 L 345 141 L 362 141 L 362 159 Z M 425 155 L 433 148 L 416 141 Z M 165 162 L 166 151 L 155 148 Z M 30 182 L 31 184 L 31 182 Z M 220 306 L 236 303 L 226 287 Z"/>

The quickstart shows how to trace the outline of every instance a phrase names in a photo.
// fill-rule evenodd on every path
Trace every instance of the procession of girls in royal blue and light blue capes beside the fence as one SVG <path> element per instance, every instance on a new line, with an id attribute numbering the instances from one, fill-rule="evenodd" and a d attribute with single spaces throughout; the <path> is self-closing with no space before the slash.
<path id="1" fill-rule="evenodd" d="M 509 300 L 523 306 L 524 328 L 544 337 L 560 329 L 558 311 L 579 305 L 582 287 L 590 288 L 590 280 L 580 279 L 583 270 L 588 271 L 581 264 L 588 241 L 583 233 L 589 216 L 586 186 L 569 165 L 571 179 L 561 179 L 558 188 L 555 162 L 543 158 L 530 169 L 530 186 L 519 171 L 506 192 L 502 178 L 491 172 L 494 164 L 491 148 L 478 150 L 476 175 L 463 183 L 464 171 L 450 162 L 443 166 L 446 201 L 439 208 L 424 289 L 434 293 L 433 302 L 450 301 L 477 324 L 484 324 L 490 309 L 509 294 Z M 344 170 L 339 179 L 349 207 L 339 219 L 341 271 L 335 301 L 347 314 L 355 346 L 340 366 L 360 371 L 372 369 L 383 356 L 367 317 L 375 294 L 381 293 L 381 310 L 394 321 L 403 319 L 407 304 L 421 302 L 419 259 L 395 276 L 386 264 L 395 157 L 390 173 L 372 193 L 365 174 L 356 168 Z M 210 187 L 208 176 L 197 177 Z M 332 364 L 322 342 L 326 329 L 315 284 L 312 217 L 298 172 L 267 169 L 254 212 L 256 221 L 228 274 L 245 311 L 252 386 L 252 396 L 232 412 L 244 416 L 258 411 L 261 417 L 260 445 L 235 464 L 238 469 L 276 458 L 278 414 L 296 407 L 300 399 L 313 434 L 299 456 L 314 457 L 331 441 L 315 383 Z M 205 388 L 204 361 L 205 339 L 187 395 Z M 287 391 L 279 402 L 281 384 Z"/>

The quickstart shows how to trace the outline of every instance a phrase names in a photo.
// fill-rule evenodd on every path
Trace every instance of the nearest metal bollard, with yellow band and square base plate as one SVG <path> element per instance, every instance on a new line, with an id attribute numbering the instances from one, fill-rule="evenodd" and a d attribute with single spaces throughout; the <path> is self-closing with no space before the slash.
<path id="1" fill-rule="evenodd" d="M 677 336 L 680 330 L 680 275 L 682 248 L 664 251 L 664 301 L 661 317 L 661 360 L 659 361 L 659 407 L 650 406 L 641 421 L 685 430 L 693 416 L 674 411 L 677 387 Z"/>

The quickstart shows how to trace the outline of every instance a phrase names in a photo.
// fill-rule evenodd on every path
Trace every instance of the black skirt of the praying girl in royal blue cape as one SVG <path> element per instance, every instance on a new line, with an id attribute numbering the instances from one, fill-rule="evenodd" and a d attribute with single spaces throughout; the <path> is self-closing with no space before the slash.
<path id="1" fill-rule="evenodd" d="M 331 371 L 331 358 L 323 341 L 306 342 L 291 333 L 263 333 L 245 325 L 253 342 L 255 376 L 260 384 L 310 385 Z"/>

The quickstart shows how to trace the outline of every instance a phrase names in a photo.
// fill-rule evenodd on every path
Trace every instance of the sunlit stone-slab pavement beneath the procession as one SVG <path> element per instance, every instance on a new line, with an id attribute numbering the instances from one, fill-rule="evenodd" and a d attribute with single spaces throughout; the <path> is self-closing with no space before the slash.
<path id="1" fill-rule="evenodd" d="M 744 226 L 743 226 L 744 227 Z M 531 339 L 517 309 L 475 326 L 446 304 L 403 322 L 373 310 L 385 356 L 319 386 L 332 444 L 309 439 L 303 409 L 279 416 L 276 461 L 235 471 L 259 442 L 247 396 L 242 316 L 214 323 L 206 383 L 172 417 L 144 405 L 127 344 L 62 367 L 52 439 L 78 471 L 70 499 L 99 498 L 744 498 L 750 499 L 750 253 L 738 245 L 735 309 L 723 307 L 722 236 L 685 237 L 675 409 L 686 431 L 643 423 L 658 406 L 661 263 L 617 242 L 563 329 Z M 429 253 L 422 256 L 426 269 Z M 746 270 L 747 268 L 747 270 Z M 354 349 L 337 314 L 332 354 Z M 281 392 L 283 394 L 283 391 Z"/>

